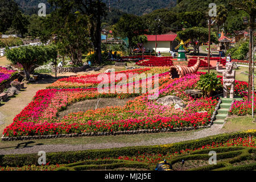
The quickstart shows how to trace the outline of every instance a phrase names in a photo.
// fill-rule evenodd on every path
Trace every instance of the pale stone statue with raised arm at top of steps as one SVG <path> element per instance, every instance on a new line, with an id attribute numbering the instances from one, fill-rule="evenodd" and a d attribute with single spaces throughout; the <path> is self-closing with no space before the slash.
<path id="1" fill-rule="evenodd" d="M 231 85 L 230 98 L 234 98 L 234 81 L 236 76 L 236 71 L 233 70 L 233 64 L 231 62 L 226 63 L 226 69 L 218 69 L 218 63 L 216 65 L 216 70 L 218 73 L 222 73 L 223 76 L 223 95 L 224 98 L 228 96 L 227 89 Z"/>

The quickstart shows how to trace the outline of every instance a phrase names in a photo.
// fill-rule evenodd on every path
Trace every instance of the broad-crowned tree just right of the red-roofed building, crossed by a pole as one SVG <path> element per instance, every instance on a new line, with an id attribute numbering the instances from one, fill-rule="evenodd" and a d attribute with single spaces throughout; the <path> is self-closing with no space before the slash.
<path id="1" fill-rule="evenodd" d="M 186 30 L 177 32 L 177 36 L 184 41 L 191 39 L 191 44 L 194 48 L 194 53 L 199 53 L 199 47 L 202 43 L 208 42 L 208 29 L 204 27 L 192 27 Z M 213 43 L 218 43 L 216 33 L 210 32 L 210 40 Z"/>

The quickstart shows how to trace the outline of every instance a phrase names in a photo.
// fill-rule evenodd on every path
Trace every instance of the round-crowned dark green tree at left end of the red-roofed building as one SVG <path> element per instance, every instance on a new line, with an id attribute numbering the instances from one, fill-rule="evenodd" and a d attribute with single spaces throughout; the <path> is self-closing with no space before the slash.
<path id="1" fill-rule="evenodd" d="M 144 25 L 140 16 L 125 14 L 113 26 L 114 36 L 121 38 L 128 38 L 130 54 L 134 46 L 133 39 L 136 36 L 146 33 L 146 26 Z"/>

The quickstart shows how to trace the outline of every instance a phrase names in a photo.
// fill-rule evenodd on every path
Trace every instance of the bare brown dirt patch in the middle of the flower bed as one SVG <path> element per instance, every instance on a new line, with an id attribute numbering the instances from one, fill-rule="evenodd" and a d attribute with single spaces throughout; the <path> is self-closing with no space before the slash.
<path id="1" fill-rule="evenodd" d="M 86 100 L 81 102 L 76 102 L 75 104 L 72 104 L 67 107 L 67 109 L 60 111 L 59 119 L 63 118 L 65 115 L 68 115 L 69 113 L 77 113 L 79 111 L 86 111 L 90 109 L 96 109 L 97 108 L 104 108 L 107 106 L 125 106 L 126 102 L 129 100 L 134 100 L 135 97 L 131 98 L 100 98 L 99 100 L 93 99 L 93 100 Z"/>

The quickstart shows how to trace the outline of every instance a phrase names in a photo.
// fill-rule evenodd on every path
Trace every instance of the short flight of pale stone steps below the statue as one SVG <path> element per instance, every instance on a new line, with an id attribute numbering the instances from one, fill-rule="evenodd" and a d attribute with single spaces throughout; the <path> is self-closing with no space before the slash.
<path id="1" fill-rule="evenodd" d="M 213 124 L 224 124 L 233 100 L 242 100 L 242 98 L 221 98 L 220 109 L 217 110 L 216 120 L 213 121 Z"/>

